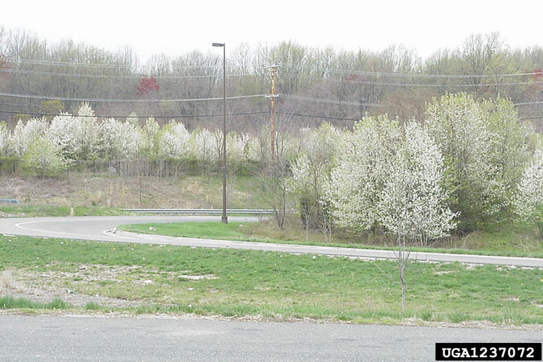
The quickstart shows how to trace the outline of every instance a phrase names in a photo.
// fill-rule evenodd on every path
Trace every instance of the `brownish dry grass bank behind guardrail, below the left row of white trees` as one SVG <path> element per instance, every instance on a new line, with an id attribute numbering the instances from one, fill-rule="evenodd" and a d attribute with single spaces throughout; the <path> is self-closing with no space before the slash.
<path id="1" fill-rule="evenodd" d="M 97 206 L 123 208 L 219 208 L 222 176 L 121 177 L 70 172 L 58 178 L 0 176 L 0 198 L 25 205 Z M 228 179 L 228 207 L 262 209 L 267 206 L 252 176 Z"/>

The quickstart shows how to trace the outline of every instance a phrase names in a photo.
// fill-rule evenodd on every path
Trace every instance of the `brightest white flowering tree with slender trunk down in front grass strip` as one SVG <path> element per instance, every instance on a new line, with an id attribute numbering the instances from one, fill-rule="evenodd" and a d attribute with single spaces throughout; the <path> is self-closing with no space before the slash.
<path id="1" fill-rule="evenodd" d="M 378 202 L 380 224 L 396 237 L 402 311 L 409 247 L 413 243 L 427 246 L 428 239 L 447 236 L 456 227 L 457 214 L 446 204 L 443 172 L 443 157 L 436 143 L 414 121 L 406 123 L 405 140 L 397 145 L 390 177 Z"/>

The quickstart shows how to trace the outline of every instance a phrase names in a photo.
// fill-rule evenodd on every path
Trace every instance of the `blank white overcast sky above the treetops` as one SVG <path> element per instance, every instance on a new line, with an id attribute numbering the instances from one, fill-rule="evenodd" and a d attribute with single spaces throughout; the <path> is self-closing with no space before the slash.
<path id="1" fill-rule="evenodd" d="M 503 5 L 499 5 L 503 4 Z M 510 47 L 543 46 L 543 1 L 4 1 L 0 25 L 51 42 L 71 38 L 151 54 L 216 51 L 293 40 L 307 46 L 379 50 L 404 44 L 426 57 L 472 33 L 498 31 Z"/>

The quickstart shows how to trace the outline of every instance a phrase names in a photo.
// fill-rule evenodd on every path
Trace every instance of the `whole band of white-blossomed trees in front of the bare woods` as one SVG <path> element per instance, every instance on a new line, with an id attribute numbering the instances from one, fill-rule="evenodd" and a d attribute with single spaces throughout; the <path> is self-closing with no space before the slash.
<path id="1" fill-rule="evenodd" d="M 188 131 L 178 121 L 99 121 L 89 104 L 51 121 L 18 121 L 13 130 L 0 123 L 0 161 L 18 159 L 20 171 L 41 176 L 98 161 L 127 176 L 135 161 L 147 165 L 147 176 L 165 167 L 178 176 L 194 162 L 218 171 L 222 142 L 221 131 Z M 428 246 L 506 219 L 543 230 L 543 138 L 502 97 L 446 94 L 427 105 L 422 120 L 368 115 L 353 128 L 279 131 L 274 155 L 267 128 L 232 131 L 226 142 L 230 171 L 245 164 L 278 227 L 296 205 L 306 230 L 322 231 L 327 241 L 338 228 L 366 236 L 401 231 Z"/>

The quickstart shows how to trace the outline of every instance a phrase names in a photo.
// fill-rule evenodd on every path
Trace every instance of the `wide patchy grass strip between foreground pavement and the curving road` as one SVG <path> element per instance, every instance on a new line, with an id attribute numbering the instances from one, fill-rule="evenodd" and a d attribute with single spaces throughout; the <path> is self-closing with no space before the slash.
<path id="1" fill-rule="evenodd" d="M 0 236 L 0 260 L 19 290 L 59 290 L 62 296 L 70 289 L 71 295 L 144 302 L 112 307 L 89 298 L 80 306 L 47 306 L 4 298 L 0 308 L 543 323 L 539 269 L 410 263 L 408 310 L 399 313 L 397 266 L 385 260 L 8 236 Z"/>

